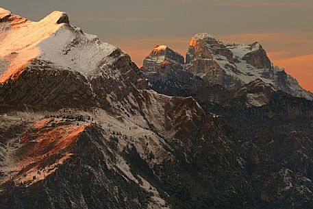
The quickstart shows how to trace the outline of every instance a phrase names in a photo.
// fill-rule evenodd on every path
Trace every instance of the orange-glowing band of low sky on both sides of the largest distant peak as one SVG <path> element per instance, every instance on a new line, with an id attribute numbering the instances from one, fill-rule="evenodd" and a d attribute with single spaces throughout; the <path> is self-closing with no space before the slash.
<path id="1" fill-rule="evenodd" d="M 286 69 L 299 84 L 313 92 L 313 40 L 312 33 L 264 33 L 214 35 L 223 42 L 252 43 L 258 41 L 271 61 Z M 138 66 L 149 55 L 154 45 L 168 45 L 184 57 L 191 37 L 155 37 L 106 40 L 118 45 L 132 57 Z"/>

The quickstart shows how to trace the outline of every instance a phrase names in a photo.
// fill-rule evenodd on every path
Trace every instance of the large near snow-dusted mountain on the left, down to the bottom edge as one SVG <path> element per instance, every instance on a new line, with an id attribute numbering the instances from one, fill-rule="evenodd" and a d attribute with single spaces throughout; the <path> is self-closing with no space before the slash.
<path id="1" fill-rule="evenodd" d="M 23 208 L 168 208 L 151 182 L 156 177 L 148 180 L 130 164 L 145 159 L 152 172 L 175 162 L 164 138 L 192 134 L 205 116 L 195 99 L 155 93 L 125 52 L 70 25 L 64 12 L 39 22 L 0 12 L 1 204 L 17 206 L 11 197 L 21 189 Z M 133 155 L 138 160 L 128 162 Z M 59 194 L 70 194 L 73 205 Z"/>

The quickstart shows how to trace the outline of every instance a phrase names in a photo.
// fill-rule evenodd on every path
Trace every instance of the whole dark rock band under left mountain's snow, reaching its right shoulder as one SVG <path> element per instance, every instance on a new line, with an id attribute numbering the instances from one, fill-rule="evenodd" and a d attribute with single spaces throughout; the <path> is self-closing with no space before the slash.
<path id="1" fill-rule="evenodd" d="M 101 75 L 86 77 L 52 62 L 34 60 L 18 79 L 9 79 L 0 84 L 1 110 L 110 108 L 107 95 L 112 94 L 117 86 L 123 86 L 123 82 L 132 83 L 134 86 L 114 92 L 114 101 L 122 101 L 130 92 L 136 91 L 136 86 L 149 89 L 147 81 L 139 79 L 136 73 L 138 68 L 128 55 L 121 54 L 118 49 L 110 56 L 115 62 L 106 66 L 110 69 L 108 73 L 118 71 L 120 79 L 108 77 L 103 71 Z"/>

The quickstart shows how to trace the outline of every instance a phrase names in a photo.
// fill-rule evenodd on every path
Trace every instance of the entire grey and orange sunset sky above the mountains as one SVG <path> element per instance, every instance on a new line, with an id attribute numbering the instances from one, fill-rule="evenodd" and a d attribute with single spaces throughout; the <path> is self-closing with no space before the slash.
<path id="1" fill-rule="evenodd" d="M 117 45 L 138 66 L 154 45 L 168 45 L 185 57 L 191 37 L 199 32 L 223 42 L 258 41 L 275 65 L 313 92 L 310 0 L 10 0 L 0 6 L 34 21 L 62 10 L 72 25 Z"/>

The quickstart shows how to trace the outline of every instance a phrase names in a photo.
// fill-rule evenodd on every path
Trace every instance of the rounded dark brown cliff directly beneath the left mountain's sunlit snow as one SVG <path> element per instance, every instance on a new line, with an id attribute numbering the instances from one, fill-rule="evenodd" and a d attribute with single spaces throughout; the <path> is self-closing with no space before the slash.
<path id="1" fill-rule="evenodd" d="M 37 63 L 38 64 L 38 63 Z M 87 79 L 79 73 L 55 69 L 51 64 L 34 64 L 0 88 L 1 109 L 90 106 L 95 103 Z M 68 101 L 71 101 L 68 103 Z"/>

